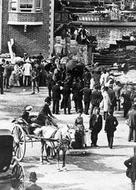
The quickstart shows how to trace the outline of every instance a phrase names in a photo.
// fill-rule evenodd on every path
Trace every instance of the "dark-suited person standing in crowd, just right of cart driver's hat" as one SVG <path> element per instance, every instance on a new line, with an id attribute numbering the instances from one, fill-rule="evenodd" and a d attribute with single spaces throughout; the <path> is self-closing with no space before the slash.
<path id="1" fill-rule="evenodd" d="M 61 99 L 61 90 L 58 82 L 52 87 L 53 114 L 59 114 L 59 102 Z"/>

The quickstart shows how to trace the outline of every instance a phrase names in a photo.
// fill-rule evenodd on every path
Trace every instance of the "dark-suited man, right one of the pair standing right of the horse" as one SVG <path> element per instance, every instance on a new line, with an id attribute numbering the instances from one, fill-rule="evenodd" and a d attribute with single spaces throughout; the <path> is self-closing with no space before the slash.
<path id="1" fill-rule="evenodd" d="M 110 110 L 109 114 L 110 115 L 107 117 L 105 122 L 105 132 L 107 133 L 108 146 L 112 148 L 114 132 L 116 131 L 118 121 L 117 118 L 113 116 L 113 110 Z"/>

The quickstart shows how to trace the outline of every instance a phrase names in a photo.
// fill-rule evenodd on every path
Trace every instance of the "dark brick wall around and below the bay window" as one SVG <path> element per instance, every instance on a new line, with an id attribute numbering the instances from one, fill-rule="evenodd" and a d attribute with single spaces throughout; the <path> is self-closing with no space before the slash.
<path id="1" fill-rule="evenodd" d="M 27 26 L 27 32 L 24 32 L 24 26 L 8 25 L 8 0 L 3 1 L 2 14 L 2 53 L 8 52 L 7 42 L 13 38 L 15 40 L 15 49 L 18 56 L 24 52 L 29 55 L 39 54 L 41 52 L 45 57 L 49 54 L 49 14 L 50 0 L 43 0 L 43 25 Z"/>

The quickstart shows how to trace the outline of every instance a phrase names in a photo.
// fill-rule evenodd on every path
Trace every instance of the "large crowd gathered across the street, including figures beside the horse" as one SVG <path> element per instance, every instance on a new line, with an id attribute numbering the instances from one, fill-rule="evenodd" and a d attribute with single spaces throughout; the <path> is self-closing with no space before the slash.
<path id="1" fill-rule="evenodd" d="M 39 93 L 39 86 L 47 86 L 48 96 L 52 101 L 50 115 L 62 112 L 72 114 L 73 110 L 79 113 L 75 122 L 78 131 L 76 138 L 79 144 L 73 145 L 78 148 L 86 146 L 83 138 L 82 113 L 90 115 L 91 146 L 97 147 L 98 134 L 105 120 L 108 145 L 112 148 L 114 131 L 118 125 L 114 111 L 120 111 L 122 106 L 126 119 L 129 118 L 131 112 L 135 111 L 136 93 L 133 85 L 122 85 L 116 81 L 109 70 L 98 69 L 97 63 L 86 67 L 83 60 L 72 53 L 65 57 L 52 56 L 47 60 L 42 54 L 33 58 L 24 54 L 23 62 L 16 63 L 14 66 L 3 59 L 0 65 L 0 80 L 1 94 L 3 94 L 3 87 L 7 89 L 12 86 L 24 88 L 31 86 L 31 94 L 35 94 L 36 90 Z M 72 102 L 74 102 L 74 107 Z M 103 110 L 103 116 L 100 110 Z M 42 111 L 41 115 L 45 114 L 47 109 Z M 39 121 L 44 125 L 41 115 L 39 115 Z M 130 125 L 130 122 L 128 123 Z M 132 140 L 135 131 L 130 125 L 129 141 Z"/>

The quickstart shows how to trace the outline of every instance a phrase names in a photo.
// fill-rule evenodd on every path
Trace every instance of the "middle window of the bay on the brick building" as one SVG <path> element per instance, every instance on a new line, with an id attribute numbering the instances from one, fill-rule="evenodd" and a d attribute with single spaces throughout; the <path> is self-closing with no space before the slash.
<path id="1" fill-rule="evenodd" d="M 20 0 L 20 11 L 21 12 L 32 12 L 33 0 Z"/>

